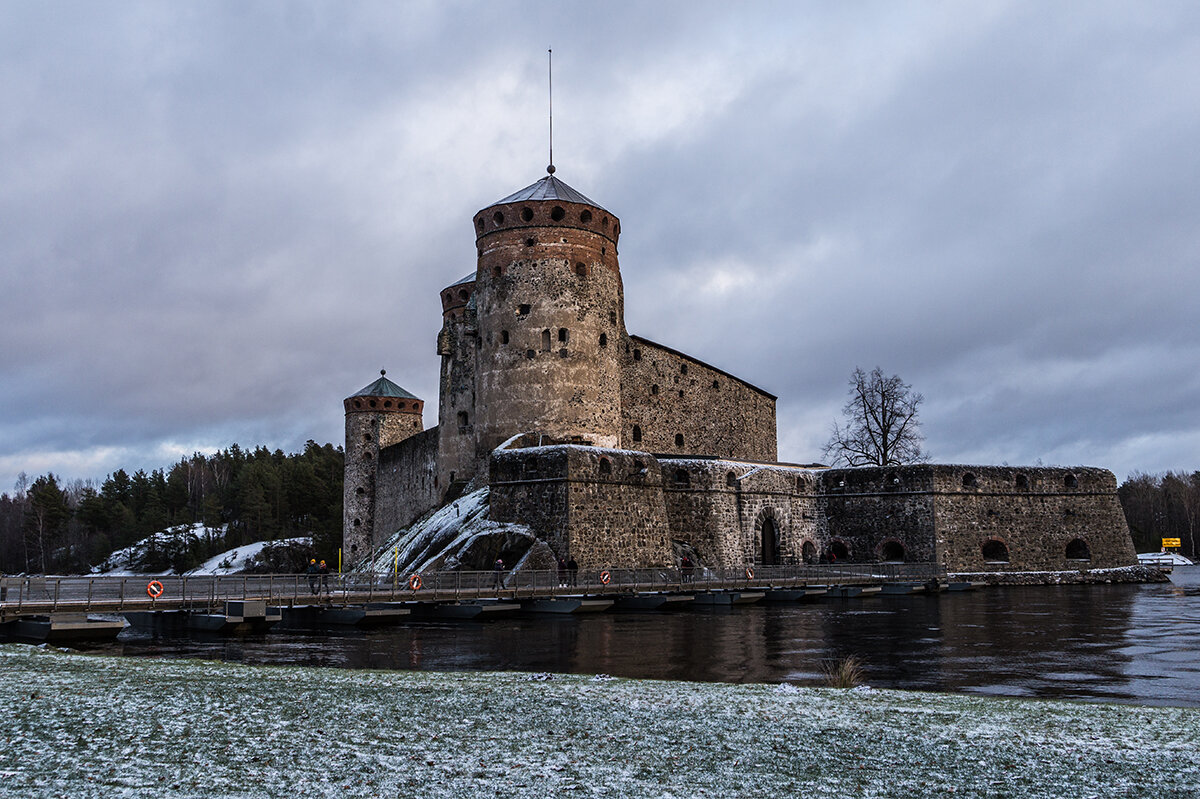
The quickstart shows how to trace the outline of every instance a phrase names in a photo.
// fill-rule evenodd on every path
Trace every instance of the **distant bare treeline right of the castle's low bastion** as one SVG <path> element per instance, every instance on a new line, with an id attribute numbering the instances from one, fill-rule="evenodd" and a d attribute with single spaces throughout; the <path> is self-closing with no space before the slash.
<path id="1" fill-rule="evenodd" d="M 1163 539 L 1180 539 L 1195 559 L 1200 523 L 1200 471 L 1134 473 L 1117 488 L 1138 552 L 1158 552 Z"/>

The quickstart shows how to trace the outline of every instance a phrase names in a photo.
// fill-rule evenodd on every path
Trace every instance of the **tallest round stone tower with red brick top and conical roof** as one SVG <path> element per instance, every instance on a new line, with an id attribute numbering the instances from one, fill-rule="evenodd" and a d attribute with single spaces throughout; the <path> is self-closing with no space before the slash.
<path id="1" fill-rule="evenodd" d="M 618 446 L 620 222 L 553 174 L 474 222 L 479 455 L 526 432 Z"/>

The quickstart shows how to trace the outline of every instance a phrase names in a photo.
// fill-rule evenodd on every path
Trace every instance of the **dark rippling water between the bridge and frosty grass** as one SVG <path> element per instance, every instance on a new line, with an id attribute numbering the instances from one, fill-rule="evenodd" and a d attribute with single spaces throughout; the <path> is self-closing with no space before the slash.
<path id="1" fill-rule="evenodd" d="M 726 609 L 409 621 L 258 637 L 126 630 L 130 656 L 818 685 L 856 655 L 876 687 L 1200 707 L 1200 566 L 1171 583 L 983 588 Z"/>

